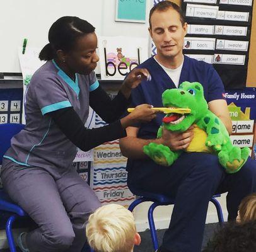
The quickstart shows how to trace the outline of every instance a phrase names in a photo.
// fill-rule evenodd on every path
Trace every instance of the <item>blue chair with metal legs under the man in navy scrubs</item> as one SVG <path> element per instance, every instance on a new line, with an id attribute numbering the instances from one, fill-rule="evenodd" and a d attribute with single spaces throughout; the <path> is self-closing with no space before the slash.
<path id="1" fill-rule="evenodd" d="M 140 203 L 143 202 L 153 202 L 153 204 L 149 207 L 148 209 L 148 223 L 149 223 L 149 230 L 151 234 L 151 240 L 153 243 L 154 251 L 158 249 L 158 238 L 156 235 L 156 227 L 154 226 L 154 209 L 158 207 L 159 205 L 174 205 L 175 199 L 166 197 L 165 195 L 161 195 L 158 193 L 149 193 L 149 192 L 143 192 L 141 190 L 137 190 L 136 188 L 129 188 L 134 195 L 139 196 L 134 202 L 131 203 L 129 206 L 129 210 L 132 212 L 134 208 L 139 205 Z M 216 200 L 216 197 L 220 197 L 221 195 L 214 195 L 211 198 L 211 202 L 214 203 L 217 214 L 218 214 L 218 219 L 219 219 L 219 224 L 222 224 L 224 222 L 223 219 L 223 212 L 221 209 L 221 205 L 219 204 L 218 200 Z"/>

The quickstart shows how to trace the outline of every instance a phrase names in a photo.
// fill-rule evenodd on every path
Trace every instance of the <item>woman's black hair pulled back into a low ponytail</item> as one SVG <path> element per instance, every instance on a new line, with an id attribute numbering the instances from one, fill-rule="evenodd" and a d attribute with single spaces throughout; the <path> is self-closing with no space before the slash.
<path id="1" fill-rule="evenodd" d="M 39 59 L 54 59 L 57 50 L 69 52 L 79 37 L 94 31 L 95 27 L 86 20 L 81 20 L 76 16 L 62 16 L 50 27 L 48 34 L 50 43 L 41 50 Z"/>

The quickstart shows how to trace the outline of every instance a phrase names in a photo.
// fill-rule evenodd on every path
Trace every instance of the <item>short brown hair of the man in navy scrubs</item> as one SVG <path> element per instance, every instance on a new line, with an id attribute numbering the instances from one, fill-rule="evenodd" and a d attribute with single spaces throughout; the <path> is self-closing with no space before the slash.
<path id="1" fill-rule="evenodd" d="M 154 13 L 154 11 L 167 11 L 168 9 L 174 9 L 177 11 L 178 14 L 180 14 L 180 22 L 182 23 L 182 26 L 185 24 L 185 16 L 183 14 L 182 9 L 175 3 L 171 1 L 161 1 L 160 3 L 156 4 L 149 13 L 149 27 L 151 28 L 151 16 Z"/>

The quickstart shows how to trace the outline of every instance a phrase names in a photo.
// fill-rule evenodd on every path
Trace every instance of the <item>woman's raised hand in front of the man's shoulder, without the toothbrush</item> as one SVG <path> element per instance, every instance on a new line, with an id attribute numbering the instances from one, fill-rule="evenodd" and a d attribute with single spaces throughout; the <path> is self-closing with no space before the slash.
<path id="1" fill-rule="evenodd" d="M 125 78 L 120 91 L 128 99 L 132 89 L 136 88 L 144 80 L 151 81 L 149 71 L 146 68 L 135 68 Z"/>

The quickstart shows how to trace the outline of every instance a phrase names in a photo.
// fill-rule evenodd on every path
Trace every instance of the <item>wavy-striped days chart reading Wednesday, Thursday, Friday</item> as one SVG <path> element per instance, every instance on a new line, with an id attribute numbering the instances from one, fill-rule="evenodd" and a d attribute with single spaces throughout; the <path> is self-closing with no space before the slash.
<path id="1" fill-rule="evenodd" d="M 95 127 L 106 124 L 96 115 Z M 127 206 L 135 199 L 127 186 L 126 163 L 127 158 L 122 156 L 119 140 L 95 147 L 90 186 L 102 204 L 119 203 Z"/>

